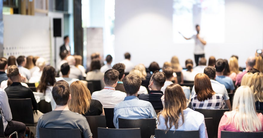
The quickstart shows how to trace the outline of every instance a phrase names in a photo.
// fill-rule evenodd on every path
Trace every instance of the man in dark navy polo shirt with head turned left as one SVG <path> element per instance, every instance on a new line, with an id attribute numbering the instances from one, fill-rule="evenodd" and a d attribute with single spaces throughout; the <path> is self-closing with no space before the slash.
<path id="1" fill-rule="evenodd" d="M 166 81 L 165 74 L 163 72 L 155 71 L 149 82 L 149 94 L 140 94 L 139 99 L 149 101 L 155 110 L 163 109 L 161 97 L 163 92 L 161 88 Z"/>

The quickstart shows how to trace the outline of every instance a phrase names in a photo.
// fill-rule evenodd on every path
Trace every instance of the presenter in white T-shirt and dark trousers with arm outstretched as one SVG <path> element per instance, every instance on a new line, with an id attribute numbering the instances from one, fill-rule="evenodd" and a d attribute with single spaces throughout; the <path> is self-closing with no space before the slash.
<path id="1" fill-rule="evenodd" d="M 204 57 L 204 46 L 207 44 L 207 41 L 204 40 L 204 37 L 200 35 L 200 26 L 197 24 L 195 26 L 196 35 L 193 35 L 190 38 L 184 37 L 180 32 L 180 34 L 186 39 L 194 39 L 195 40 L 195 49 L 194 49 L 194 55 L 195 55 L 195 64 L 198 66 L 199 58 Z"/>

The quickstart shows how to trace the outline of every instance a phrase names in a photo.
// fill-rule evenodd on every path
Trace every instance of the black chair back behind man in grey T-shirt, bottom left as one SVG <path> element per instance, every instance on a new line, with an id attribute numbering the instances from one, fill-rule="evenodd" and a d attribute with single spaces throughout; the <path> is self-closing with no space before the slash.
<path id="1" fill-rule="evenodd" d="M 81 131 L 79 128 L 75 128 L 75 129 L 39 128 L 39 136 L 40 138 L 51 138 L 51 137 L 81 138 Z"/>

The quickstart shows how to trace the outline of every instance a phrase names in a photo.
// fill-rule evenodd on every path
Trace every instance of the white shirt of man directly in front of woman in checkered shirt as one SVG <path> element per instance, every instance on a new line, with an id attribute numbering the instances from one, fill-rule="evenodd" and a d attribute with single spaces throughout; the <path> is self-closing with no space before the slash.
<path id="1" fill-rule="evenodd" d="M 229 100 L 229 96 L 228 96 L 228 93 L 227 93 L 227 89 L 226 87 L 224 86 L 224 84 L 221 84 L 219 83 L 218 81 L 216 80 L 212 80 L 210 79 L 211 81 L 211 85 L 212 85 L 212 89 L 214 90 L 215 93 L 218 93 L 218 94 L 222 94 L 223 97 L 224 97 L 224 100 Z M 193 86 L 193 89 L 192 89 L 192 97 L 193 95 L 195 95 L 195 86 Z"/>

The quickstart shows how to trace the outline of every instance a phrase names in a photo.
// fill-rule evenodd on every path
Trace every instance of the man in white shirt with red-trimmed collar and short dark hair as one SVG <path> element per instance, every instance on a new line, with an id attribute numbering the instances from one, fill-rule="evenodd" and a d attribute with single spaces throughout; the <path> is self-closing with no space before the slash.
<path id="1" fill-rule="evenodd" d="M 100 101 L 103 108 L 114 108 L 114 106 L 126 97 L 126 93 L 116 91 L 115 87 L 118 83 L 119 72 L 115 69 L 109 69 L 105 72 L 103 81 L 104 89 L 93 92 L 91 98 Z"/>

